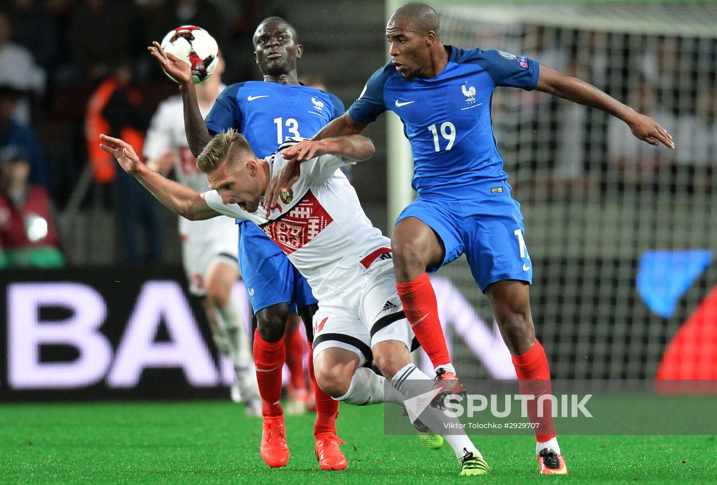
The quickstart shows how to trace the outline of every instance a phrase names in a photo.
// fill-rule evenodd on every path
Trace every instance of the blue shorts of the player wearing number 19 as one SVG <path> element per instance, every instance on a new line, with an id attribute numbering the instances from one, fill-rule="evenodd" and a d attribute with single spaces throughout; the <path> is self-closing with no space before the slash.
<path id="1" fill-rule="evenodd" d="M 416 217 L 438 235 L 445 257 L 429 273 L 465 253 L 480 291 L 501 280 L 533 282 L 533 264 L 523 235 L 521 204 L 508 182 L 474 187 L 470 196 L 418 197 L 399 215 L 398 224 Z"/>

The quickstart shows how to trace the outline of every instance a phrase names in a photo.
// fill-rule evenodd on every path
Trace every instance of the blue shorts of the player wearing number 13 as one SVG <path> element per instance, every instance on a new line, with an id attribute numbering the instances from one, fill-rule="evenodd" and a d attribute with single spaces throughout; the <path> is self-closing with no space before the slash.
<path id="1" fill-rule="evenodd" d="M 292 313 L 318 303 L 306 278 L 259 226 L 247 221 L 237 224 L 239 266 L 255 314 L 277 303 L 289 303 Z"/>

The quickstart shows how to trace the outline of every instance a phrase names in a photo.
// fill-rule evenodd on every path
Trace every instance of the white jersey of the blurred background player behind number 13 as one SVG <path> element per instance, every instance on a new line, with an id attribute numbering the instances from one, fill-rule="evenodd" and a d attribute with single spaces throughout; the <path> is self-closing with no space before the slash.
<path id="1" fill-rule="evenodd" d="M 226 86 L 222 85 L 221 90 Z M 209 114 L 209 108 L 199 107 L 202 118 Z M 181 96 L 176 95 L 163 100 L 152 117 L 144 142 L 146 160 L 156 159 L 164 152 L 175 150 L 177 163 L 174 167 L 177 182 L 196 192 L 209 189 L 206 176 L 196 168 L 196 158 L 189 150 L 184 131 L 184 111 Z M 179 218 L 179 232 L 191 244 L 194 241 L 206 242 L 217 237 L 238 237 L 237 227 L 225 220 L 189 221 Z"/>

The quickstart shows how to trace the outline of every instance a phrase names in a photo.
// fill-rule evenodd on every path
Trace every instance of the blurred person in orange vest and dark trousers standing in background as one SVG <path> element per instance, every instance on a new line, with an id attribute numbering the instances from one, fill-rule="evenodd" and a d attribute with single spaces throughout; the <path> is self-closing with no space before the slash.
<path id="1" fill-rule="evenodd" d="M 99 184 L 112 183 L 115 208 L 122 208 L 115 210 L 115 216 L 124 261 L 141 265 L 161 260 L 158 203 L 134 181 L 133 176 L 117 170 L 113 157 L 102 151 L 97 143 L 100 133 L 105 133 L 133 140 L 136 143 L 133 146 L 142 153 L 144 133 L 149 128 L 151 115 L 143 109 L 141 94 L 130 85 L 132 75 L 130 61 L 120 60 L 110 77 L 92 93 L 85 118 L 85 139 L 95 180 Z M 146 235 L 144 250 L 138 230 L 143 230 Z"/>

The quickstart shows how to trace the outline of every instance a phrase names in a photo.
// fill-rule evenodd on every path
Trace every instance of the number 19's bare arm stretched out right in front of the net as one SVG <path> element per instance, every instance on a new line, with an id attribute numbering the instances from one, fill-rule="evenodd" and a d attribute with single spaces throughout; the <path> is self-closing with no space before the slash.
<path id="1" fill-rule="evenodd" d="M 618 100 L 603 93 L 595 86 L 577 79 L 576 77 L 566 76 L 557 72 L 550 67 L 541 65 L 540 78 L 538 79 L 538 91 L 543 93 L 554 94 L 560 98 L 564 98 L 574 103 L 598 108 L 606 113 L 615 116 L 630 126 L 630 131 L 635 137 L 642 141 L 650 143 L 650 145 L 663 145 L 669 149 L 675 149 L 675 143 L 672 136 L 665 128 L 657 124 L 655 120 L 649 116 L 637 113 L 637 111 Z"/>

